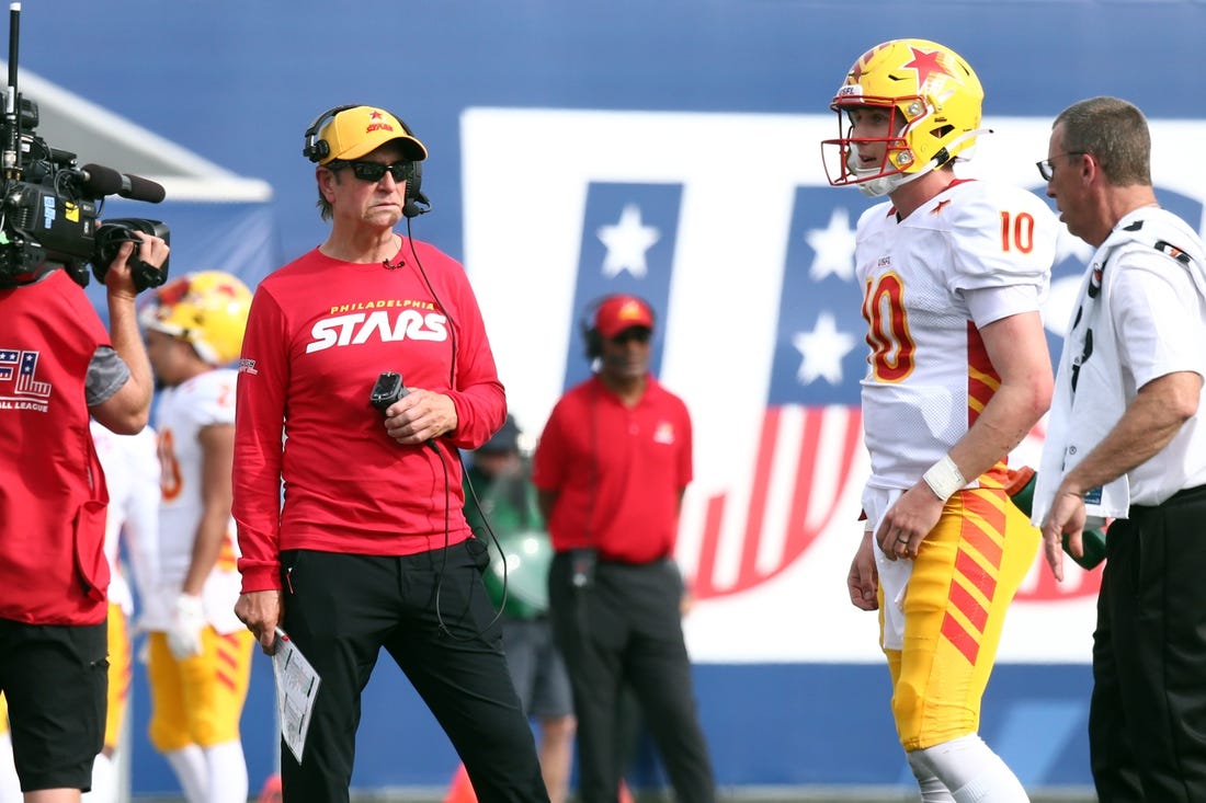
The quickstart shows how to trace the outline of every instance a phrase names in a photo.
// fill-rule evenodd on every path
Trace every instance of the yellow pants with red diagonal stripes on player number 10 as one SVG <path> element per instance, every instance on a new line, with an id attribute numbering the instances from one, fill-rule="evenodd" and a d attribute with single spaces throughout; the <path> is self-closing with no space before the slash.
<path id="1" fill-rule="evenodd" d="M 903 650 L 884 650 L 906 750 L 979 728 L 1006 609 L 1038 543 L 1038 531 L 1000 488 L 960 491 L 947 502 L 908 581 Z"/>

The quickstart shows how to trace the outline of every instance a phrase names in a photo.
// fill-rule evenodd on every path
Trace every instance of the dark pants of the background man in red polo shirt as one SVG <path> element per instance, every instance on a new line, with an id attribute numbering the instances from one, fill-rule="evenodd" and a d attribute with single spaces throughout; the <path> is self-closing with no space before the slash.
<path id="1" fill-rule="evenodd" d="M 695 707 L 683 640 L 683 581 L 669 561 L 599 563 L 585 587 L 573 558 L 554 556 L 549 612 L 566 660 L 578 716 L 578 793 L 582 803 L 615 803 L 627 756 L 617 755 L 621 687 L 636 693 L 675 796 L 716 799 L 712 761 Z"/>

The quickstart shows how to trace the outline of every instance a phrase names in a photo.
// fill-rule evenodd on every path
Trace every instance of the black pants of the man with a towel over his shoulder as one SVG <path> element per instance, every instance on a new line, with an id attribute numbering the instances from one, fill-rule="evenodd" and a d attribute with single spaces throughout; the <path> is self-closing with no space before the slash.
<path id="1" fill-rule="evenodd" d="M 1089 754 L 1101 803 L 1206 801 L 1206 487 L 1110 526 Z"/>

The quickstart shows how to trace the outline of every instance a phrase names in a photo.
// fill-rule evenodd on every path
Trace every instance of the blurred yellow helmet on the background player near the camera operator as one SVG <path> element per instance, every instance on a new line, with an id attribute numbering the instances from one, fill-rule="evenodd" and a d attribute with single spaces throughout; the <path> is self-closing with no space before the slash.
<path id="1" fill-rule="evenodd" d="M 251 291 L 238 276 L 201 270 L 171 280 L 139 313 L 146 329 L 180 338 L 211 365 L 239 357 L 247 328 Z"/>

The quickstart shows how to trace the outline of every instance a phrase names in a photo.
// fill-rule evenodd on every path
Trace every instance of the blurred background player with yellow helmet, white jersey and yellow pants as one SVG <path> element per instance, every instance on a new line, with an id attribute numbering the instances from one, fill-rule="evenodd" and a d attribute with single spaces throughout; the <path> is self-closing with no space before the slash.
<path id="1" fill-rule="evenodd" d="M 163 502 L 157 576 L 145 590 L 151 743 L 189 803 L 247 799 L 239 719 L 254 639 L 239 598 L 230 516 L 236 371 L 251 291 L 223 271 L 159 288 L 140 315 L 159 383 Z"/>

